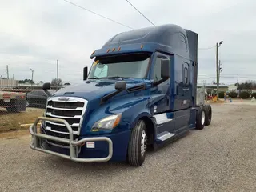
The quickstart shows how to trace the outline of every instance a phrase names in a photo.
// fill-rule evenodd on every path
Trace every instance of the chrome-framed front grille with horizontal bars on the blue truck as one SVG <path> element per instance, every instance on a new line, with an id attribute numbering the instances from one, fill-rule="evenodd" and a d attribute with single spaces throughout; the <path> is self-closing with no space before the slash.
<path id="1" fill-rule="evenodd" d="M 62 100 L 65 98 L 65 101 Z M 87 101 L 74 97 L 54 97 L 50 98 L 46 106 L 46 117 L 65 119 L 74 130 L 74 135 L 80 134 L 82 116 L 86 111 Z M 46 121 L 46 132 L 49 134 L 62 135 L 69 134 L 66 126 L 57 122 Z M 50 131 L 50 132 L 49 132 Z"/>

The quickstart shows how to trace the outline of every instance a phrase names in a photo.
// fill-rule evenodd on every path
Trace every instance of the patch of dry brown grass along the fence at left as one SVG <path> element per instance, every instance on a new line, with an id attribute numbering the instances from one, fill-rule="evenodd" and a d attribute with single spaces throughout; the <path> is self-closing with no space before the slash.
<path id="1" fill-rule="evenodd" d="M 8 113 L 6 109 L 0 108 L 0 133 L 26 129 L 27 126 L 22 126 L 22 124 L 33 123 L 35 118 L 42 116 L 43 112 L 43 109 L 26 108 L 26 111 L 21 113 Z"/>

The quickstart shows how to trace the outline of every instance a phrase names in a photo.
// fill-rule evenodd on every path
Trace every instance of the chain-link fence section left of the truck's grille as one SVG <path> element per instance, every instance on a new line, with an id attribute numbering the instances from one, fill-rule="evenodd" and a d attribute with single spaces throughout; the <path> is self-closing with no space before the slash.
<path id="1" fill-rule="evenodd" d="M 0 86 L 0 133 L 27 129 L 44 113 L 47 98 L 42 86 Z"/>

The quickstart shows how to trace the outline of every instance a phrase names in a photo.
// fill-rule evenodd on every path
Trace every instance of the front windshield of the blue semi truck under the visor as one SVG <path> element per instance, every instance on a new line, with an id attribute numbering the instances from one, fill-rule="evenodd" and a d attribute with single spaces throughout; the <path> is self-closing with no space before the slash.
<path id="1" fill-rule="evenodd" d="M 88 78 L 145 78 L 149 62 L 150 54 L 96 58 Z"/>

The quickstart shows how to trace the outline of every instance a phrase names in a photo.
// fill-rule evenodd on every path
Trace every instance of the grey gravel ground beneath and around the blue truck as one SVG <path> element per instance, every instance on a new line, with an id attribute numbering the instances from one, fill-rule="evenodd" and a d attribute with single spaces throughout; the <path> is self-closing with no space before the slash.
<path id="1" fill-rule="evenodd" d="M 210 126 L 191 130 L 141 167 L 80 164 L 0 140 L 1 191 L 256 191 L 255 106 L 215 104 Z"/>

